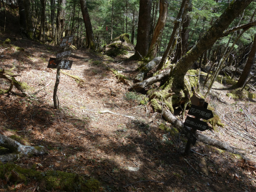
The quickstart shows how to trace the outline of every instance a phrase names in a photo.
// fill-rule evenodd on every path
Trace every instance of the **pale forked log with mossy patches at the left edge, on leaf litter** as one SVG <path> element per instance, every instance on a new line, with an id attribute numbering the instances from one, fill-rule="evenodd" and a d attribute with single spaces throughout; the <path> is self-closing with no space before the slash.
<path id="1" fill-rule="evenodd" d="M 1 162 L 16 160 L 26 155 L 38 156 L 45 153 L 43 146 L 25 146 L 20 144 L 16 140 L 8 138 L 7 136 L 4 136 L 2 134 L 0 134 L 0 146 L 7 148 L 9 152 L 11 152 L 9 154 L 0 155 Z"/>

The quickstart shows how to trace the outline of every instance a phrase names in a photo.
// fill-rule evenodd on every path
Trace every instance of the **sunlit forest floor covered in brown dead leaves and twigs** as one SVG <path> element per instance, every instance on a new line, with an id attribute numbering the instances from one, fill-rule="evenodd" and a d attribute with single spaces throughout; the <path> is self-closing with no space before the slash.
<path id="1" fill-rule="evenodd" d="M 10 35 L 1 36 L 1 40 L 6 37 L 13 40 Z M 54 110 L 56 69 L 47 68 L 47 64 L 50 57 L 56 56 L 57 48 L 20 38 L 11 44 L 25 51 L 3 46 L 0 68 L 14 68 L 12 72 L 20 75 L 16 80 L 27 84 L 26 92 L 35 92 L 52 80 L 35 97 L 0 95 L 0 133 L 16 135 L 25 145 L 44 146 L 48 152 L 40 157 L 22 158 L 16 164 L 24 168 L 36 164 L 39 171 L 90 175 L 100 181 L 101 191 L 256 191 L 256 170 L 242 164 L 240 156 L 199 141 L 192 147 L 197 153 L 183 156 L 186 137 L 161 130 L 161 124 L 173 127 L 161 114 L 154 122 L 143 125 L 154 113 L 150 103 L 141 105 L 139 102 L 145 96 L 128 92 L 129 86 L 106 68 L 122 71 L 132 80 L 137 62 L 124 58 L 108 60 L 86 49 L 73 50 L 69 58 L 74 61 L 72 68 L 64 72 L 84 82 L 78 83 L 69 75 L 61 74 L 60 110 Z M 203 82 L 203 78 L 201 80 Z M 9 86 L 0 79 L 0 89 L 8 90 Z M 109 88 L 116 96 L 110 95 Z M 226 88 L 228 86 L 216 82 L 206 100 L 222 117 L 225 127 L 203 134 L 228 143 L 254 160 L 256 143 L 237 133 L 239 129 L 243 134 L 242 130 L 246 130 L 256 137 L 256 101 L 233 100 L 226 96 L 229 92 Z M 15 88 L 13 91 L 18 92 Z M 201 92 L 204 95 L 206 90 Z M 100 113 L 103 110 L 117 114 Z M 206 161 L 208 176 L 200 171 L 202 158 Z M 44 191 L 40 183 L 22 184 L 22 188 L 17 185 L 0 180 L 0 188 L 35 191 L 38 185 L 39 190 Z"/>

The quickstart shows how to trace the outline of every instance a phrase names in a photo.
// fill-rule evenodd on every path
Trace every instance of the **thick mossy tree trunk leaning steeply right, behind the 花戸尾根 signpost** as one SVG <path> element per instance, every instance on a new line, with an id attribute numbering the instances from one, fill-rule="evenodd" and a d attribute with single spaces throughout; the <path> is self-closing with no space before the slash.
<path id="1" fill-rule="evenodd" d="M 189 90 L 186 89 L 184 77 L 188 72 L 188 69 L 192 64 L 201 56 L 208 48 L 210 48 L 216 40 L 222 37 L 222 34 L 230 23 L 239 16 L 239 14 L 252 2 L 253 0 L 236 0 L 230 3 L 230 6 L 224 11 L 224 13 L 214 22 L 214 24 L 208 29 L 204 36 L 198 41 L 198 43 L 188 51 L 177 63 L 174 70 L 170 72 L 167 82 L 162 88 L 161 92 L 154 93 L 159 95 L 160 100 L 163 95 L 171 92 L 176 93 L 176 102 L 184 102 L 186 97 L 189 97 Z M 162 57 L 163 60 L 164 56 Z M 155 101 L 154 101 L 155 102 Z M 170 104 L 168 107 L 172 109 Z M 158 106 L 159 108 L 159 106 Z"/>

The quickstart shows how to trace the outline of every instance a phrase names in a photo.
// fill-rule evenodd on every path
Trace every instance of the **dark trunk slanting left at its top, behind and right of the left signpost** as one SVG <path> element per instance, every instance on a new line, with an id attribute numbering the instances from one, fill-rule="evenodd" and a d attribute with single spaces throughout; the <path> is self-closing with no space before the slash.
<path id="1" fill-rule="evenodd" d="M 95 50 L 95 42 L 94 42 L 94 36 L 93 36 L 93 31 L 92 31 L 92 24 L 91 24 L 88 8 L 86 5 L 86 0 L 80 0 L 80 4 L 81 4 L 81 10 L 82 10 L 82 15 L 83 15 L 83 19 L 84 19 L 84 26 L 86 29 L 86 39 L 88 40 L 87 44 L 86 44 L 86 48 Z"/>

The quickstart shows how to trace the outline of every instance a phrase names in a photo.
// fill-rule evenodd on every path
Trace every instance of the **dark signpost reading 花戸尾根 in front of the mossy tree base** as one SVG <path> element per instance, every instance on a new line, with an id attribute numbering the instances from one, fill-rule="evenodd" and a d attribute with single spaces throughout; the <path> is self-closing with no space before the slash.
<path id="1" fill-rule="evenodd" d="M 208 103 L 204 102 L 204 99 L 192 96 L 190 101 L 192 106 L 190 107 L 188 114 L 195 116 L 195 118 L 187 116 L 184 122 L 183 133 L 188 138 L 188 142 L 184 151 L 185 155 L 190 153 L 191 144 L 196 144 L 196 130 L 205 131 L 209 128 L 207 123 L 201 121 L 200 119 L 202 118 L 208 120 L 213 118 L 213 113 L 211 110 L 207 109 Z M 189 130 L 187 126 L 191 127 L 191 130 Z"/>

